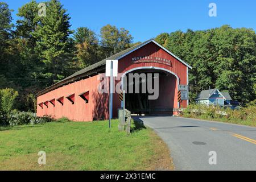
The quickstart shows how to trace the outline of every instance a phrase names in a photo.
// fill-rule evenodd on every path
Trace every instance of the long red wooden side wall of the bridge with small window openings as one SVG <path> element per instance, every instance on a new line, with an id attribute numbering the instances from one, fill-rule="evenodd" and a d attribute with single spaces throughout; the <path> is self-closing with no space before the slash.
<path id="1" fill-rule="evenodd" d="M 38 103 L 49 100 L 49 98 L 60 98 L 61 105 L 56 103 L 55 107 L 51 104 L 44 109 L 38 106 L 38 116 L 52 115 L 55 118 L 67 117 L 73 121 L 93 121 L 93 119 L 108 118 L 108 94 L 98 93 L 98 76 L 89 77 L 85 80 L 73 82 L 62 86 L 38 97 Z M 93 102 L 88 104 L 79 96 L 89 90 L 89 97 Z M 67 96 L 75 94 L 73 99 L 75 104 L 67 100 Z M 64 96 L 64 98 L 63 98 Z"/>

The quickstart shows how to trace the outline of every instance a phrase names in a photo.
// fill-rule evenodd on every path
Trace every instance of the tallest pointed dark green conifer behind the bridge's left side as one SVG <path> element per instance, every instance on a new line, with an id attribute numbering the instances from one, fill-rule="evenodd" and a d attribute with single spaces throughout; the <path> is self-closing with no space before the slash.
<path id="1" fill-rule="evenodd" d="M 51 0 L 46 5 L 46 16 L 40 17 L 41 23 L 32 34 L 38 40 L 36 49 L 46 66 L 44 76 L 53 81 L 61 80 L 73 72 L 69 69 L 74 48 L 69 19 L 63 5 L 57 0 Z"/>

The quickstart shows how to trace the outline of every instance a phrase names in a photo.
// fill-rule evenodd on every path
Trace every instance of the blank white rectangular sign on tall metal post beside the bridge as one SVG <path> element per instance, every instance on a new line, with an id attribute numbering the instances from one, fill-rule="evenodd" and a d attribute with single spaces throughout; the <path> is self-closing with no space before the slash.
<path id="1" fill-rule="evenodd" d="M 118 63 L 117 60 L 106 60 L 106 77 L 110 77 L 109 86 L 109 128 L 111 127 L 112 111 L 113 111 L 113 77 L 117 77 Z"/>

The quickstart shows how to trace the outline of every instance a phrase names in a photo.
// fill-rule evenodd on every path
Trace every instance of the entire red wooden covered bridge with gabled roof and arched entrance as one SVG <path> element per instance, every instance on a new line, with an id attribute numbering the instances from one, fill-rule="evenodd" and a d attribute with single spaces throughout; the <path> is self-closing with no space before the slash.
<path id="1" fill-rule="evenodd" d="M 178 85 L 188 85 L 188 69 L 191 67 L 151 39 L 86 67 L 39 92 L 38 116 L 67 117 L 73 121 L 108 119 L 109 92 L 98 92 L 106 60 L 118 60 L 118 73 L 127 78 L 126 90 L 130 86 L 135 89 L 135 81 L 129 79 L 130 73 L 142 75 L 139 80 L 140 92 L 125 94 L 126 109 L 132 113 L 177 114 L 176 109 L 187 107 L 188 100 L 178 101 Z M 142 92 L 141 89 L 148 80 L 148 73 L 153 76 L 152 88 L 156 80 L 159 82 L 159 97 L 156 100 L 148 100 L 152 93 L 148 93 L 148 90 Z M 158 76 L 154 75 L 156 73 Z M 117 84 L 118 81 L 115 81 Z M 117 117 L 121 107 L 119 95 L 114 93 L 113 117 Z"/>

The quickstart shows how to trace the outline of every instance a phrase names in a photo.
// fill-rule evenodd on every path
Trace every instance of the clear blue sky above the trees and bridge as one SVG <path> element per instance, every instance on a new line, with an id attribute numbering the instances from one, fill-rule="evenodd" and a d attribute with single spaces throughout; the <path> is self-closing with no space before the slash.
<path id="1" fill-rule="evenodd" d="M 0 0 L 1 1 L 1 0 Z M 2 0 L 13 9 L 14 21 L 18 8 L 30 0 Z M 42 2 L 42 1 L 37 1 Z M 61 0 L 71 16 L 72 29 L 89 27 L 100 32 L 106 24 L 130 31 L 134 42 L 154 38 L 162 32 L 205 30 L 230 26 L 256 30 L 255 0 Z M 208 15 L 209 3 L 217 5 L 217 17 Z"/>

